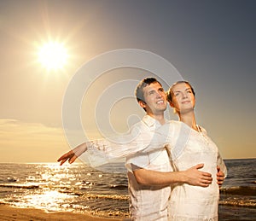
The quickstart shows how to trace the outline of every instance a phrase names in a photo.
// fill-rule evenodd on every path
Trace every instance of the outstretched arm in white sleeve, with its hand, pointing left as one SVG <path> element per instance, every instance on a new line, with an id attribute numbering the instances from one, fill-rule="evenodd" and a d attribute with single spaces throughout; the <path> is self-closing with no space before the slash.
<path id="1" fill-rule="evenodd" d="M 57 161 L 61 162 L 61 165 L 67 160 L 69 163 L 73 163 L 78 157 L 82 159 L 82 154 L 90 151 L 90 154 L 85 156 L 86 159 L 90 159 L 93 162 L 96 161 L 93 159 L 94 157 L 96 158 L 98 155 L 101 155 L 101 162 L 99 164 L 96 163 L 96 166 L 100 166 L 108 163 L 110 159 L 119 159 L 137 153 L 148 153 L 165 148 L 168 130 L 168 125 L 166 126 L 166 130 L 164 130 L 166 133 L 162 131 L 149 131 L 137 126 L 125 136 L 112 137 L 108 140 L 100 139 L 84 142 L 73 148 L 73 150 L 63 154 Z"/>

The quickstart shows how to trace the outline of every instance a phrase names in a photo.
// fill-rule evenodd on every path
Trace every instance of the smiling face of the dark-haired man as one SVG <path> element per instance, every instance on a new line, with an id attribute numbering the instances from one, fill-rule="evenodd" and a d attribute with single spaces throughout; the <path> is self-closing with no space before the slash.
<path id="1" fill-rule="evenodd" d="M 163 114 L 166 110 L 166 93 L 158 83 L 152 83 L 143 88 L 145 102 L 140 102 L 146 108 L 148 115 Z"/>

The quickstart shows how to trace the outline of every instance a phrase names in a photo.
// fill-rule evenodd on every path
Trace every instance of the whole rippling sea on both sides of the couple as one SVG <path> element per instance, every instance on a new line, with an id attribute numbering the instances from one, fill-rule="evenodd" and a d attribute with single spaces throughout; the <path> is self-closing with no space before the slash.
<path id="1" fill-rule="evenodd" d="M 224 161 L 219 220 L 256 220 L 256 159 Z M 127 188 L 125 173 L 79 163 L 0 163 L 0 203 L 10 206 L 128 218 Z"/>

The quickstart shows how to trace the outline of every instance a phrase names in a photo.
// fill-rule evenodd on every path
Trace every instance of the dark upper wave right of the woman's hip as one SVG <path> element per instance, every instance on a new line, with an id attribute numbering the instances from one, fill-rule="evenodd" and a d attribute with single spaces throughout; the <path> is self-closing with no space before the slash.
<path id="1" fill-rule="evenodd" d="M 220 189 L 223 195 L 256 195 L 256 187 L 254 186 L 238 186 Z"/>

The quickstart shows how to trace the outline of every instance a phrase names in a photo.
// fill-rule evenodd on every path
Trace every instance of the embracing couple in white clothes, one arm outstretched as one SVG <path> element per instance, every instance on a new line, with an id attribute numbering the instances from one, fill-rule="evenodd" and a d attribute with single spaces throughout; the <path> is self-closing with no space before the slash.
<path id="1" fill-rule="evenodd" d="M 166 93 L 157 79 L 147 78 L 135 95 L 146 114 L 122 142 L 84 142 L 58 161 L 73 163 L 88 151 L 126 157 L 131 220 L 218 220 L 219 186 L 227 171 L 217 146 L 196 124 L 195 90 L 179 81 Z M 178 121 L 165 119 L 167 102 Z"/>

